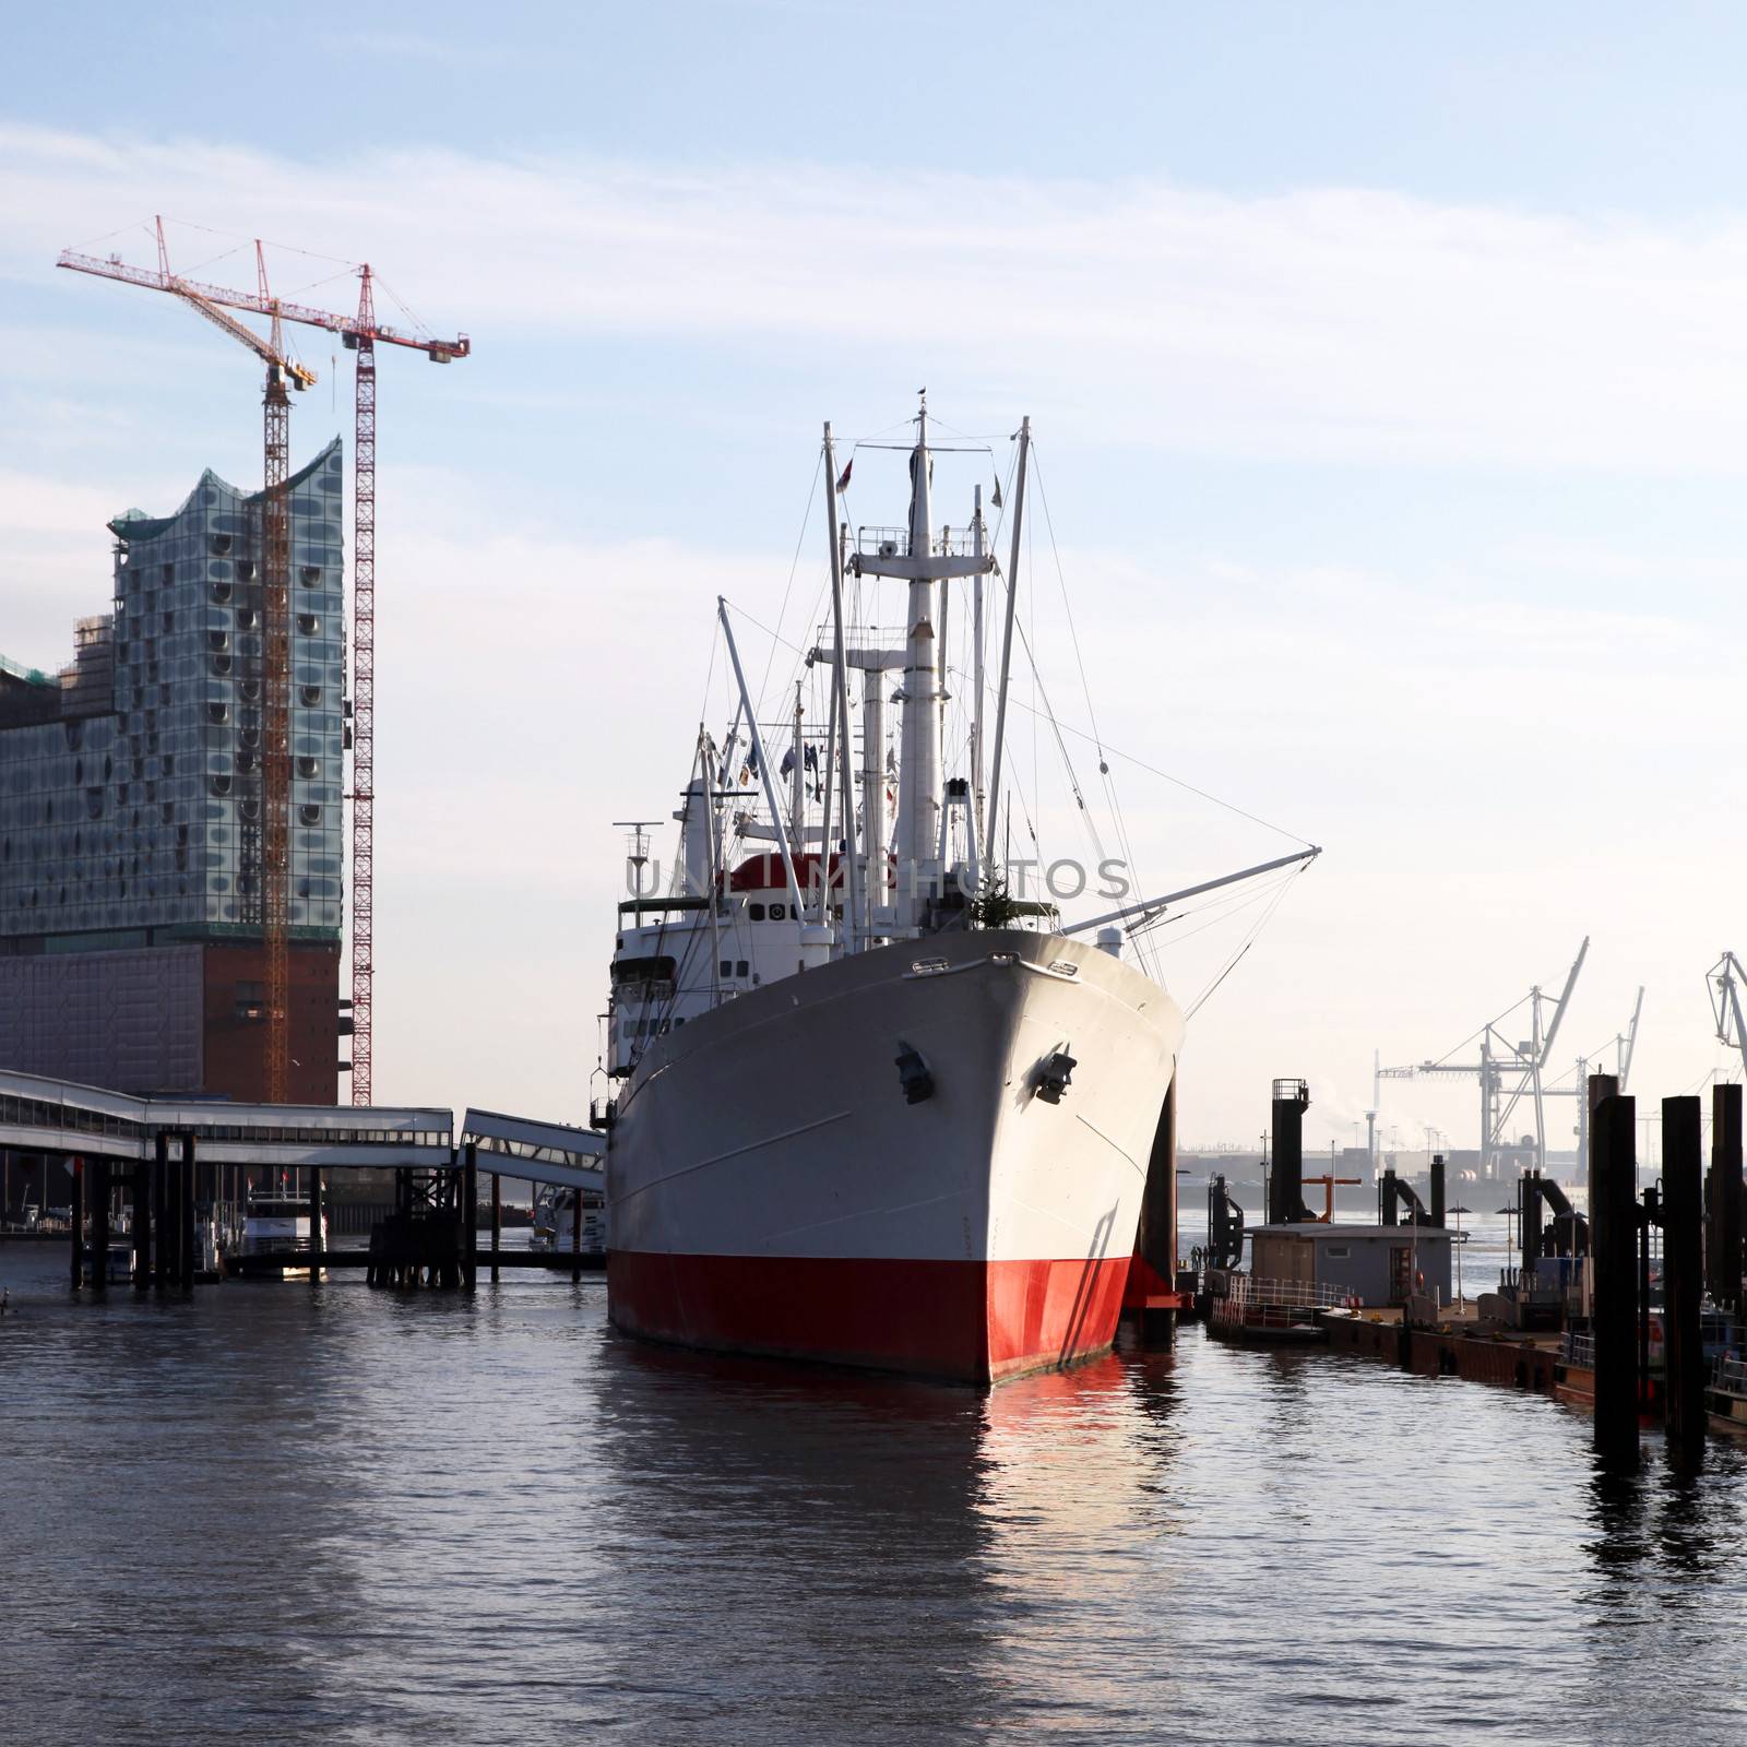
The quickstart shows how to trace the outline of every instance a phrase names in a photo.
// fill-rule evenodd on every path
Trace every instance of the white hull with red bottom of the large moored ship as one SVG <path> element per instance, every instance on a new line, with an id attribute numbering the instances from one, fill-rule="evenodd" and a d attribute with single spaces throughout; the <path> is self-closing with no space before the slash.
<path id="1" fill-rule="evenodd" d="M 1020 931 L 903 942 L 699 1015 L 618 1099 L 613 1322 L 966 1382 L 1101 1352 L 1181 1038 L 1139 971 Z M 1057 1052 L 1074 1066 L 1050 1102 Z"/>

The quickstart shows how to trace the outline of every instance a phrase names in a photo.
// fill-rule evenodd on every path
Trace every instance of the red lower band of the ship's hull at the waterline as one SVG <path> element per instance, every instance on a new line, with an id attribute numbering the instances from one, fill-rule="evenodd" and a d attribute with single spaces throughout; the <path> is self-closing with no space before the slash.
<path id="1" fill-rule="evenodd" d="M 1129 1258 L 880 1261 L 610 1251 L 617 1328 L 715 1352 L 994 1382 L 1101 1352 Z"/>

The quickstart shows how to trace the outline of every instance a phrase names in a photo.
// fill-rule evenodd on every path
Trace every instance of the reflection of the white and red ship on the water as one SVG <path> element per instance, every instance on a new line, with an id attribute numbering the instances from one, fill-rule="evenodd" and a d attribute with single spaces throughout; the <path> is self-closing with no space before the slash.
<path id="1" fill-rule="evenodd" d="M 877 1740 L 1095 1710 L 1099 1681 L 1029 1651 L 1088 1607 L 1120 1639 L 1157 1590 L 1136 1555 L 1179 1509 L 1153 1483 L 1167 1378 L 1109 1357 L 984 1396 L 615 1347 L 594 1405 L 638 1550 L 622 1618 L 713 1646 L 664 1688 L 674 1717 L 746 1702 L 772 1738 L 853 1716 Z M 620 1637 L 622 1679 L 648 1682 L 650 1646 Z"/>

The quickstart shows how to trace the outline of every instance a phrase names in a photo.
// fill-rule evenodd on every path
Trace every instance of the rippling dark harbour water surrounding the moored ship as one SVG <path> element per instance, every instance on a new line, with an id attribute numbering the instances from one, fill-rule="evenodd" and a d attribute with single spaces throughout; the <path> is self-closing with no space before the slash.
<path id="1" fill-rule="evenodd" d="M 604 1284 L 73 1303 L 0 1247 L 0 1740 L 1747 1738 L 1747 1459 L 1183 1333 L 970 1391 Z"/>

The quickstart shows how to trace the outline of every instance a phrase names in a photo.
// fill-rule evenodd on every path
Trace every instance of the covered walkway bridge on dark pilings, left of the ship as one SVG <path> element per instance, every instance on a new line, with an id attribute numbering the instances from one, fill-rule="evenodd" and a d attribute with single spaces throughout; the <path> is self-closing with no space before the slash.
<path id="1" fill-rule="evenodd" d="M 367 1268 L 372 1284 L 473 1289 L 479 1263 L 570 1272 L 601 1258 L 571 1251 L 505 1251 L 501 1179 L 604 1190 L 604 1136 L 592 1129 L 430 1106 L 234 1104 L 150 1099 L 37 1074 L 0 1071 L 0 1150 L 61 1158 L 72 1174 L 70 1282 L 105 1293 L 112 1209 L 128 1212 L 128 1277 L 138 1291 L 187 1291 L 201 1272 L 197 1209 L 218 1200 L 224 1172 L 302 1172 L 309 1244 L 297 1267 L 318 1281 L 327 1268 Z M 480 1253 L 479 1165 L 491 1174 L 493 1225 Z M 391 1169 L 395 1209 L 370 1233 L 370 1249 L 321 1242 L 323 1184 L 334 1172 Z M 119 1193 L 117 1193 L 119 1191 Z M 262 1267 L 283 1268 L 283 1254 Z M 239 1274 L 260 1272 L 238 1258 Z"/>

